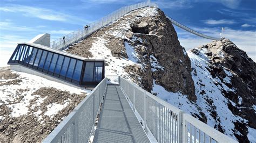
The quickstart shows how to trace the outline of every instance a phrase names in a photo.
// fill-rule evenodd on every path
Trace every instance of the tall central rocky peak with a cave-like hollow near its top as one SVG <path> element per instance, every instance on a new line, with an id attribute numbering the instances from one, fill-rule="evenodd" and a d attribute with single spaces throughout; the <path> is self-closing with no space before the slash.
<path id="1" fill-rule="evenodd" d="M 122 35 L 123 34 L 123 35 Z M 134 64 L 123 65 L 124 71 L 113 71 L 142 86 L 147 91 L 152 90 L 153 82 L 162 85 L 167 91 L 182 92 L 190 101 L 196 102 L 194 85 L 191 77 L 191 62 L 185 49 L 180 46 L 177 33 L 164 12 L 156 8 L 146 8 L 133 11 L 117 20 L 113 24 L 93 33 L 77 45 L 69 47 L 67 52 L 84 57 L 96 57 L 102 53 L 90 53 L 91 49 L 84 46 L 92 42 L 93 46 L 99 42 L 99 37 L 104 40 L 104 45 L 111 51 L 113 60 L 101 56 L 106 60 L 107 66 L 114 65 L 116 59 L 131 59 L 128 54 L 134 51 Z M 95 39 L 93 41 L 93 39 Z M 93 44 L 95 43 L 95 45 Z M 127 49 L 128 48 L 128 49 Z M 83 51 L 83 52 L 77 52 Z M 87 52 L 85 52 L 87 51 Z M 88 54 L 89 53 L 89 54 Z M 122 75 L 127 73 L 127 75 Z"/>

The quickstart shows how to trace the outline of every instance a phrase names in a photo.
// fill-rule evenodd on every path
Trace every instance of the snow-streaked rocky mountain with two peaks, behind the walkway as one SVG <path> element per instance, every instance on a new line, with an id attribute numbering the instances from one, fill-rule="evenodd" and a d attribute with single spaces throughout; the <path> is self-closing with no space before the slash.
<path id="1" fill-rule="evenodd" d="M 132 11 L 64 51 L 120 75 L 240 142 L 256 141 L 255 62 L 230 40 L 186 52 L 164 12 Z"/>

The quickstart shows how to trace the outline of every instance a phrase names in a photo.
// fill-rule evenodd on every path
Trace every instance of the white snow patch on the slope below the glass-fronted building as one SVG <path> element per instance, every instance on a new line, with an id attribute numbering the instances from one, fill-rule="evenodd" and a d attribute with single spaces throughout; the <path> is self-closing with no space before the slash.
<path id="1" fill-rule="evenodd" d="M 21 102 L 8 104 L 9 108 L 13 110 L 11 113 L 13 117 L 19 117 L 21 115 L 25 115 L 26 113 L 28 113 L 27 106 L 30 104 L 29 101 L 31 99 L 39 97 L 38 95 L 32 95 L 32 93 L 42 87 L 53 87 L 59 90 L 68 91 L 71 94 L 83 94 L 83 93 L 90 92 L 90 90 L 73 88 L 62 83 L 46 80 L 45 78 L 42 78 L 36 75 L 21 73 L 17 71 L 12 71 L 12 73 L 19 74 L 18 79 L 21 79 L 22 82 L 19 83 L 20 85 L 12 84 L 12 85 L 0 86 L 0 95 L 1 95 L 0 99 L 2 99 L 2 101 L 4 102 L 4 103 L 0 103 L 0 105 L 8 104 L 8 101 L 13 102 L 13 101 L 16 101 L 18 97 L 24 96 Z M 6 82 L 6 81 L 10 81 L 10 80 L 4 80 L 3 78 L 0 79 L 0 82 Z M 19 89 L 23 89 L 23 90 L 28 89 L 28 91 L 24 91 L 21 93 L 21 95 L 17 95 L 16 91 L 18 91 Z M 40 103 L 42 103 L 44 99 L 45 98 L 38 98 L 36 101 L 36 105 L 39 105 Z M 34 108 L 36 105 L 33 105 L 32 108 Z"/>

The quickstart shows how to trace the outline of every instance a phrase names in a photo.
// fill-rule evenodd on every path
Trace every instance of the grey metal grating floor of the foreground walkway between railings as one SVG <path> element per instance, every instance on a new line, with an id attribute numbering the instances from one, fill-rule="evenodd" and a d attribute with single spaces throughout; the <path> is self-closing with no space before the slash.
<path id="1" fill-rule="evenodd" d="M 93 142 L 150 142 L 119 85 L 107 85 Z"/>

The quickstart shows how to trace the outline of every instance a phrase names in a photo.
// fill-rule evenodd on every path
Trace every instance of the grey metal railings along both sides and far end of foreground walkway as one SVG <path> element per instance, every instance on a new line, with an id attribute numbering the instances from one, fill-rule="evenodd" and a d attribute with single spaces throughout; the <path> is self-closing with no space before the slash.
<path id="1" fill-rule="evenodd" d="M 237 142 L 123 77 L 109 78 L 118 79 L 133 111 L 142 119 L 146 133 L 158 142 Z M 43 142 L 89 141 L 106 87 L 107 77 Z"/>

